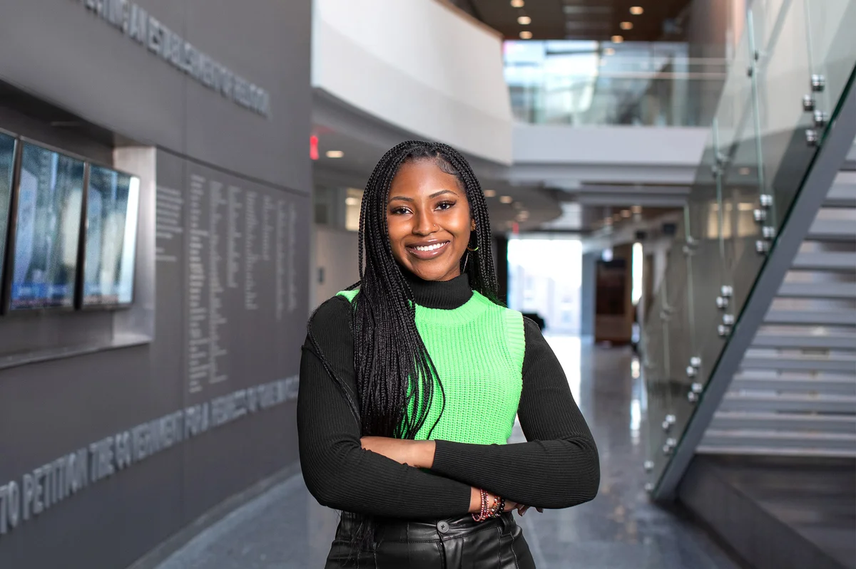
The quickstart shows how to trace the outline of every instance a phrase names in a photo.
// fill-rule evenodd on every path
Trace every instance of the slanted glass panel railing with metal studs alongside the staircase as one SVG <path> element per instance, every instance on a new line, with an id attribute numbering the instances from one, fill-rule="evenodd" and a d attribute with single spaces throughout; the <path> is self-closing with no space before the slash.
<path id="1" fill-rule="evenodd" d="M 853 80 L 853 29 L 850 0 L 755 0 L 747 14 L 644 326 L 652 490 Z"/>

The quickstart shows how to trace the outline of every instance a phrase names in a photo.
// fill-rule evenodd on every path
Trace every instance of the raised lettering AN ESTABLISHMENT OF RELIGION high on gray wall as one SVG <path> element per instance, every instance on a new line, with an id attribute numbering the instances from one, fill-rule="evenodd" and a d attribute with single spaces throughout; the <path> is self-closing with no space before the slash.
<path id="1" fill-rule="evenodd" d="M 78 0 L 86 9 L 121 30 L 173 67 L 223 97 L 270 118 L 270 95 L 211 59 L 129 0 Z"/>

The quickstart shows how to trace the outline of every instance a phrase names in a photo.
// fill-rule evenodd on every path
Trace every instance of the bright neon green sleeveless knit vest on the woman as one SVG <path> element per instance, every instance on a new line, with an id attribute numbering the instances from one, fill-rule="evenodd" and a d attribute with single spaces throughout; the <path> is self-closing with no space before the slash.
<path id="1" fill-rule="evenodd" d="M 344 290 L 353 302 L 357 290 Z M 526 337 L 523 316 L 473 291 L 458 308 L 416 305 L 416 328 L 431 355 L 446 394 L 446 407 L 431 438 L 455 443 L 504 444 L 511 436 L 523 389 Z M 425 425 L 425 440 L 443 408 L 435 384 Z"/>

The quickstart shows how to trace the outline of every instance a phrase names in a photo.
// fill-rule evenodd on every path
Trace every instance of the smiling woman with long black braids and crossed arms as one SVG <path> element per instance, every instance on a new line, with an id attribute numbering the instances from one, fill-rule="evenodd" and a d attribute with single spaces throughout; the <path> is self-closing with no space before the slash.
<path id="1" fill-rule="evenodd" d="M 360 282 L 309 321 L 306 487 L 342 510 L 328 568 L 534 567 L 512 511 L 591 500 L 597 449 L 538 326 L 497 301 L 479 181 L 445 144 L 377 163 Z M 527 443 L 505 444 L 515 414 Z"/>

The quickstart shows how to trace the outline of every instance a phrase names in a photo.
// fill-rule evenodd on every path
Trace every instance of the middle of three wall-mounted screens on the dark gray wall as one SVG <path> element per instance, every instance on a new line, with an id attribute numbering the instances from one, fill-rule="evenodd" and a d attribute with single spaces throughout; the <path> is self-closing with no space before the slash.
<path id="1" fill-rule="evenodd" d="M 21 146 L 9 308 L 73 308 L 84 163 Z"/>

